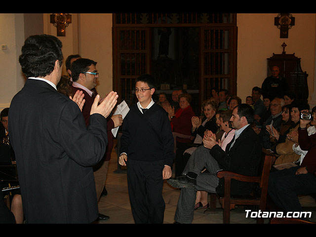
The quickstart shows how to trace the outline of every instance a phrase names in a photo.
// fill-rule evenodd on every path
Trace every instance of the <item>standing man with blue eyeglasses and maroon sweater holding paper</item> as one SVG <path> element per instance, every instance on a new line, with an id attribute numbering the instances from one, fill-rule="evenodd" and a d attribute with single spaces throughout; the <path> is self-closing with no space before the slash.
<path id="1" fill-rule="evenodd" d="M 82 108 L 82 114 L 86 124 L 89 124 L 90 110 L 93 104 L 94 98 L 97 95 L 95 86 L 97 85 L 97 79 L 99 73 L 96 69 L 97 62 L 87 59 L 78 58 L 71 65 L 71 75 L 73 79 L 72 89 L 73 93 L 77 90 L 81 90 L 84 94 L 84 105 Z M 109 161 L 111 158 L 111 151 L 114 146 L 113 134 L 111 130 L 117 126 L 120 126 L 123 122 L 121 115 L 115 115 L 107 118 L 107 133 L 108 133 L 108 146 L 103 159 L 93 167 L 95 188 L 97 194 L 97 200 L 100 199 L 102 191 L 104 189 L 105 180 L 108 173 Z M 99 213 L 99 220 L 107 220 L 109 216 Z"/>

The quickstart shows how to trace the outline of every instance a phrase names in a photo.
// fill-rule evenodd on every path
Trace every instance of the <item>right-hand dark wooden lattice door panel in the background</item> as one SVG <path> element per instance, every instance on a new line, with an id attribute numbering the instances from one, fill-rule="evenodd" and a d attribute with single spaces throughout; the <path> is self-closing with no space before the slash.
<path id="1" fill-rule="evenodd" d="M 228 89 L 236 95 L 236 30 L 233 27 L 202 27 L 200 30 L 200 99 L 211 89 Z"/>

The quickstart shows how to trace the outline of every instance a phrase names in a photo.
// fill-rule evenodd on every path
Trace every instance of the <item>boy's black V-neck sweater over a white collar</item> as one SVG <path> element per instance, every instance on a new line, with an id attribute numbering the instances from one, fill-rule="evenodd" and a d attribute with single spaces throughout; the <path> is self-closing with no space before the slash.
<path id="1" fill-rule="evenodd" d="M 120 153 L 127 159 L 151 161 L 164 160 L 172 167 L 174 159 L 174 139 L 170 121 L 165 110 L 156 103 L 144 114 L 137 104 L 123 120 Z"/>

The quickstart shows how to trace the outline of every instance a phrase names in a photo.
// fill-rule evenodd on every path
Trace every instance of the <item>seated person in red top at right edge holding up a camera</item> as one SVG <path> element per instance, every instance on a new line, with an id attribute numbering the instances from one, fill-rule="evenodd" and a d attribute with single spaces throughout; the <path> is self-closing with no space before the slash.
<path id="1" fill-rule="evenodd" d="M 269 176 L 268 194 L 285 212 L 303 211 L 298 195 L 316 193 L 316 133 L 309 135 L 309 122 L 299 121 L 298 143 L 302 150 L 308 151 L 302 163 L 271 172 Z"/>

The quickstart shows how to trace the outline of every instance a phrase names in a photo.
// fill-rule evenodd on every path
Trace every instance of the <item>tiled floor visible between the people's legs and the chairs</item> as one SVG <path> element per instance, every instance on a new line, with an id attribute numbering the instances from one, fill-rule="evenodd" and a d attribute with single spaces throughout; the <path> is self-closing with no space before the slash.
<path id="1" fill-rule="evenodd" d="M 109 220 L 96 221 L 94 224 L 133 224 L 134 220 L 131 213 L 126 173 L 118 172 L 117 154 L 115 150 L 112 151 L 111 160 L 109 163 L 109 172 L 106 181 L 106 189 L 108 195 L 102 196 L 99 200 L 99 212 L 110 216 Z M 174 213 L 176 210 L 178 197 L 180 191 L 171 187 L 167 182 L 164 182 L 163 197 L 166 203 L 164 212 L 164 224 L 171 224 L 174 222 Z M 300 197 L 303 206 L 316 206 L 315 199 L 310 196 Z M 220 207 L 220 204 L 217 204 Z M 194 214 L 193 224 L 221 224 L 223 222 L 223 211 L 221 208 L 214 212 L 197 210 Z M 313 212 L 312 221 L 316 221 L 316 214 Z M 266 219 L 265 223 L 269 220 Z M 253 218 L 246 218 L 245 210 L 237 208 L 231 211 L 231 223 L 240 224 L 255 224 L 256 220 Z"/>

